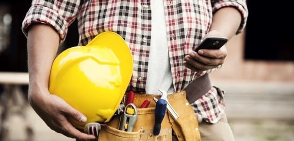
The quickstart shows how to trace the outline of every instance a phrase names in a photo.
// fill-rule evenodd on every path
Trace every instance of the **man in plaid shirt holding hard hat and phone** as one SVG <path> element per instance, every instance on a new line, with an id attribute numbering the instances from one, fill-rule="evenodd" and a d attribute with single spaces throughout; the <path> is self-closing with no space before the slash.
<path id="1" fill-rule="evenodd" d="M 76 18 L 79 45 L 103 31 L 125 39 L 134 62 L 128 90 L 157 94 L 160 88 L 171 94 L 221 67 L 225 46 L 197 53 L 193 49 L 207 36 L 230 39 L 240 33 L 247 14 L 245 0 L 34 0 L 22 24 L 28 38 L 30 104 L 52 130 L 71 138 L 95 139 L 66 118 L 85 122 L 86 117 L 48 90 L 51 64 Z M 223 93 L 217 91 L 212 87 L 191 104 L 202 141 L 234 140 Z"/>

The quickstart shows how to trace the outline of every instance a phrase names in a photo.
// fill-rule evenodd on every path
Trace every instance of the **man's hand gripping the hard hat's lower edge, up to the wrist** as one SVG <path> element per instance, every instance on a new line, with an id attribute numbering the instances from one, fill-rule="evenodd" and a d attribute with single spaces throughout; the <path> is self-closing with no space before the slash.
<path id="1" fill-rule="evenodd" d="M 41 93 L 44 92 L 44 93 Z M 71 117 L 78 122 L 86 122 L 86 117 L 73 107 L 69 106 L 62 98 L 50 94 L 48 90 L 29 89 L 29 102 L 35 112 L 54 131 L 70 138 L 80 140 L 93 140 L 95 136 L 82 133 L 68 120 Z"/>

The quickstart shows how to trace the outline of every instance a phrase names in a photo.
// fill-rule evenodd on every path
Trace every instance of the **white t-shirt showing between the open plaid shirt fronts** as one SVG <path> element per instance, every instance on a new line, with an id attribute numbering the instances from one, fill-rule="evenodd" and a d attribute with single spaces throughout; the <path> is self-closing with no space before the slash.
<path id="1" fill-rule="evenodd" d="M 151 0 L 151 45 L 146 82 L 147 94 L 174 93 L 165 26 L 163 0 Z"/>

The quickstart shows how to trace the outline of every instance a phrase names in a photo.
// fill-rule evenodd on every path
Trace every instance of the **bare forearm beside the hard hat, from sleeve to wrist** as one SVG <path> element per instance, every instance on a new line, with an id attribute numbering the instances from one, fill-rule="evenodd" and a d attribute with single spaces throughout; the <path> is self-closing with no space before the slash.
<path id="1" fill-rule="evenodd" d="M 48 89 L 51 64 L 59 46 L 59 35 L 48 25 L 34 24 L 28 32 L 27 46 L 30 89 Z"/>

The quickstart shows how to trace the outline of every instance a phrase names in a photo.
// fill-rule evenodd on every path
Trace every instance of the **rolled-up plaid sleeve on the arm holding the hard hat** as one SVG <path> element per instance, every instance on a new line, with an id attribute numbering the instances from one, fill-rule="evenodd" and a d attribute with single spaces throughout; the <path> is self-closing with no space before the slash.
<path id="1" fill-rule="evenodd" d="M 28 35 L 28 27 L 33 23 L 52 26 L 60 36 L 60 43 L 65 40 L 68 26 L 76 18 L 79 0 L 33 0 L 22 22 L 22 32 Z"/>

